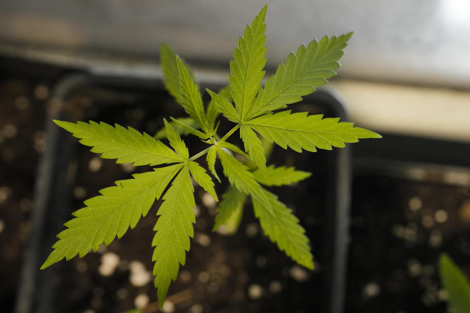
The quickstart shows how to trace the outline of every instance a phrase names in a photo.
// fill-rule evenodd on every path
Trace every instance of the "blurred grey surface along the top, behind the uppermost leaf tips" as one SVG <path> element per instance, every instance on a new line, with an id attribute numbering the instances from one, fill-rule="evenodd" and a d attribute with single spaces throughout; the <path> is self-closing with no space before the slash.
<path id="1" fill-rule="evenodd" d="M 265 2 L 0 0 L 0 51 L 13 44 L 152 60 L 165 41 L 187 59 L 228 67 L 237 36 Z M 312 38 L 353 30 L 342 75 L 468 88 L 470 6 L 465 3 L 269 1 L 268 65 L 275 67 Z"/>

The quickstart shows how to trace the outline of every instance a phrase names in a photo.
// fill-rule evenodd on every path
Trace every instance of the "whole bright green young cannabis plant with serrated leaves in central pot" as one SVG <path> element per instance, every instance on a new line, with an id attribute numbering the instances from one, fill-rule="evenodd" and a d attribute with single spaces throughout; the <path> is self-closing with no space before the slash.
<path id="1" fill-rule="evenodd" d="M 164 84 L 176 102 L 183 106 L 189 117 L 164 120 L 165 137 L 170 147 L 154 137 L 106 123 L 54 121 L 60 127 L 80 138 L 80 143 L 93 147 L 94 153 L 103 158 L 117 159 L 117 163 L 133 163 L 134 166 L 155 166 L 152 171 L 135 174 L 132 179 L 118 180 L 116 186 L 100 190 L 101 196 L 86 200 L 86 207 L 72 213 L 75 217 L 65 224 L 67 229 L 57 235 L 41 269 L 62 260 L 70 260 L 77 254 L 83 257 L 90 249 L 95 252 L 101 244 L 109 245 L 116 236 L 121 238 L 129 226 L 134 228 L 141 216 L 147 215 L 155 200 L 163 200 L 157 211 L 152 246 L 152 261 L 158 300 L 163 305 L 168 287 L 175 280 L 181 265 L 185 265 L 186 251 L 194 235 L 194 188 L 190 177 L 218 201 L 214 183 L 200 165 L 200 157 L 206 156 L 207 166 L 220 182 L 215 170 L 220 160 L 223 174 L 231 187 L 222 197 L 214 229 L 228 221 L 239 210 L 246 196 L 251 197 L 255 216 L 270 240 L 305 268 L 313 268 L 312 255 L 305 230 L 277 196 L 264 186 L 289 185 L 309 176 L 294 168 L 266 166 L 266 157 L 260 136 L 284 149 L 290 147 L 301 153 L 302 149 L 315 152 L 317 148 L 331 150 L 344 147 L 345 142 L 357 142 L 359 138 L 378 138 L 379 134 L 354 127 L 352 123 L 339 122 L 339 118 L 323 118 L 308 112 L 292 113 L 284 109 L 299 102 L 302 96 L 315 91 L 315 87 L 327 84 L 334 76 L 342 49 L 352 33 L 339 37 L 325 36 L 307 46 L 301 45 L 296 53 L 290 53 L 276 73 L 264 86 L 266 63 L 265 6 L 247 25 L 243 37 L 238 39 L 234 60 L 230 61 L 230 85 L 218 93 L 206 89 L 211 96 L 207 107 L 203 106 L 198 85 L 188 66 L 167 46 L 162 46 L 161 62 Z M 232 104 L 235 103 L 235 106 Z M 218 116 L 234 123 L 234 127 L 219 136 Z M 228 142 L 239 131 L 244 151 Z M 181 134 L 192 134 L 208 147 L 190 156 Z M 249 158 L 257 166 L 254 172 L 238 160 L 234 154 Z M 199 162 L 199 163 L 198 163 Z"/>

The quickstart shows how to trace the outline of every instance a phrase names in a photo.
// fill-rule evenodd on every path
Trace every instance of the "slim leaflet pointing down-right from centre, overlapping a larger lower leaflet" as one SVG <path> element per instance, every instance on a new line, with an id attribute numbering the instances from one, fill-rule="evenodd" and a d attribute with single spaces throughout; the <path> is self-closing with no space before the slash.
<path id="1" fill-rule="evenodd" d="M 255 180 L 253 174 L 248 170 L 248 167 L 222 149 L 217 150 L 217 155 L 222 163 L 224 175 L 229 179 L 230 184 L 234 185 L 236 189 L 241 192 L 257 199 L 266 207 L 266 210 L 272 212 L 273 208 L 270 201 L 264 194 L 261 186 Z"/>

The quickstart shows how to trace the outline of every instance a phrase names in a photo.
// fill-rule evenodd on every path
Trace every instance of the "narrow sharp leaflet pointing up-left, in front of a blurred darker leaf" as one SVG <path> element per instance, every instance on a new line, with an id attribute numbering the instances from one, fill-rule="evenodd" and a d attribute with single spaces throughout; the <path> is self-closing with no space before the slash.
<path id="1" fill-rule="evenodd" d="M 207 134 L 209 133 L 204 107 L 202 105 L 201 94 L 199 93 L 196 83 L 186 70 L 183 61 L 176 57 L 178 62 L 178 70 L 181 79 L 181 105 L 185 111 L 191 116 L 199 125 L 199 127 Z"/>

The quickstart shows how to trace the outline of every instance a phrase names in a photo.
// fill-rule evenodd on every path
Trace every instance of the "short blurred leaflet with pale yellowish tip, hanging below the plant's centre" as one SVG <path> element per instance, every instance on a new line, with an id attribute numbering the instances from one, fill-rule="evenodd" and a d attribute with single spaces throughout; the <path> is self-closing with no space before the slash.
<path id="1" fill-rule="evenodd" d="M 243 211 L 246 197 L 243 192 L 239 191 L 234 186 L 230 186 L 222 195 L 222 201 L 220 201 L 217 208 L 217 215 L 215 216 L 215 223 L 212 230 L 215 231 L 220 226 L 227 224 L 227 221 L 234 215 L 241 218 L 241 212 Z M 237 222 L 239 221 L 235 221 L 236 224 Z"/>

